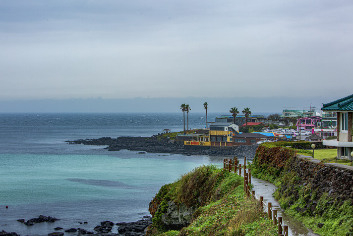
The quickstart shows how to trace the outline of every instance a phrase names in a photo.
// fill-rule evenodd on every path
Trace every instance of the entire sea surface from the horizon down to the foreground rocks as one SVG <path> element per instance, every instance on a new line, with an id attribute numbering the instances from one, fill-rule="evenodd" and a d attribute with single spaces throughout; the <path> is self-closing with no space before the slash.
<path id="1" fill-rule="evenodd" d="M 208 121 L 216 115 L 222 114 L 208 114 Z M 205 126 L 204 113 L 190 113 L 190 128 Z M 208 156 L 108 152 L 65 143 L 151 136 L 163 128 L 183 130 L 183 113 L 0 114 L 0 231 L 47 235 L 57 226 L 93 231 L 104 220 L 136 221 L 149 215 L 149 202 L 163 184 L 202 164 L 221 165 L 222 159 Z M 34 226 L 17 221 L 39 215 L 61 220 Z"/>

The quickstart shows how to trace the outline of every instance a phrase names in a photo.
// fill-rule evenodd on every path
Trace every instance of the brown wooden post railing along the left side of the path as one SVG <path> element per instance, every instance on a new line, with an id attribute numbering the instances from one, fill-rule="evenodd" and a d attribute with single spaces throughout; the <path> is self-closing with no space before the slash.
<path id="1" fill-rule="evenodd" d="M 244 165 L 239 163 L 238 157 L 234 157 L 234 160 L 232 159 L 223 159 L 223 169 L 228 170 L 229 172 L 234 172 L 235 174 L 238 174 L 242 176 L 242 172 L 244 173 L 244 192 L 246 192 L 247 198 L 251 197 L 255 200 L 260 201 L 260 205 L 262 209 L 264 209 L 264 205 L 267 207 L 267 213 L 268 213 L 268 218 L 273 220 L 273 224 L 278 225 L 278 235 L 279 236 L 288 236 L 288 225 L 283 225 L 283 219 L 281 216 L 277 216 L 277 210 L 272 209 L 272 203 L 266 204 L 264 202 L 264 197 L 260 196 L 258 199 L 255 196 L 255 191 L 250 191 L 250 184 L 251 184 L 251 169 L 248 168 L 247 171 L 247 164 L 246 164 L 246 157 L 244 158 Z M 242 171 L 243 169 L 243 171 Z"/>

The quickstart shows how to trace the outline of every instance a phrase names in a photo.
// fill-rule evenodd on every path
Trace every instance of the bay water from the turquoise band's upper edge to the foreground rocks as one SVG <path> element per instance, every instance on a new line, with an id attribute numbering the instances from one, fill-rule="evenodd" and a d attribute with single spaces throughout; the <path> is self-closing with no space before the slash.
<path id="1" fill-rule="evenodd" d="M 149 215 L 149 202 L 160 186 L 200 164 L 217 162 L 207 156 L 127 150 L 114 155 L 1 154 L 0 159 L 1 230 L 33 235 L 45 235 L 56 226 L 80 227 L 83 221 L 93 229 L 103 220 L 138 220 Z M 16 221 L 40 214 L 62 221 L 49 228 L 48 223 L 25 226 Z"/>

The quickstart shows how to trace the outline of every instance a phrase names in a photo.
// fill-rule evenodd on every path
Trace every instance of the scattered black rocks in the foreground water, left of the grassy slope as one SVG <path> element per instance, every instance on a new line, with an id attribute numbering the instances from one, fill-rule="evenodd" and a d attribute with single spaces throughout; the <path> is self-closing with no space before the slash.
<path id="1" fill-rule="evenodd" d="M 32 218 L 27 221 L 25 219 L 18 219 L 17 221 L 26 224 L 29 227 L 34 227 L 36 223 L 41 222 L 54 222 L 60 219 L 40 215 L 38 218 Z M 86 224 L 87 222 L 85 222 Z M 100 225 L 94 227 L 92 231 L 83 229 L 83 228 L 68 228 L 64 229 L 62 227 L 55 227 L 54 232 L 48 233 L 48 236 L 62 236 L 65 235 L 65 232 L 68 233 L 77 233 L 77 235 L 101 235 L 101 236 L 110 236 L 110 235 L 121 235 L 121 236 L 144 236 L 146 235 L 146 230 L 149 225 L 152 224 L 151 216 L 143 216 L 141 220 L 135 222 L 118 222 L 113 223 L 111 221 L 102 221 Z M 117 226 L 117 232 L 112 232 L 113 226 Z M 20 236 L 16 232 L 6 232 L 0 231 L 1 236 Z M 72 234 L 71 234 L 72 235 Z"/>

